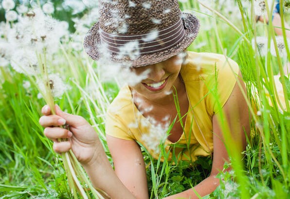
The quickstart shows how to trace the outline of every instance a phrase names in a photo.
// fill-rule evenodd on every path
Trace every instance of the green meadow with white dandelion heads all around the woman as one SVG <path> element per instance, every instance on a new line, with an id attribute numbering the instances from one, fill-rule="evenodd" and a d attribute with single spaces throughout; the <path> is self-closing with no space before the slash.
<path id="1" fill-rule="evenodd" d="M 104 119 L 109 103 L 126 83 L 126 74 L 98 66 L 83 50 L 83 37 L 97 21 L 97 2 L 13 2 L 14 6 L 1 0 L 0 7 L 0 199 L 71 198 L 62 158 L 38 123 L 46 101 L 32 68 L 45 64 L 55 78 L 50 85 L 54 102 L 91 123 L 111 164 Z M 284 71 L 284 66 L 290 43 L 285 29 L 277 37 L 271 20 L 256 22 L 255 0 L 179 2 L 181 10 L 196 15 L 201 24 L 188 50 L 216 52 L 237 62 L 251 115 L 246 149 L 242 154 L 229 151 L 233 170 L 221 171 L 220 185 L 204 198 L 289 198 L 290 71 Z M 280 0 L 280 4 L 285 7 L 282 20 L 290 23 L 290 1 Z M 264 15 L 269 18 L 273 5 L 266 1 Z M 230 139 L 225 144 L 235 148 Z M 200 157 L 190 166 L 186 161 L 166 161 L 160 148 L 164 162 L 154 160 L 143 148 L 151 199 L 189 189 L 209 175 L 211 157 Z"/>

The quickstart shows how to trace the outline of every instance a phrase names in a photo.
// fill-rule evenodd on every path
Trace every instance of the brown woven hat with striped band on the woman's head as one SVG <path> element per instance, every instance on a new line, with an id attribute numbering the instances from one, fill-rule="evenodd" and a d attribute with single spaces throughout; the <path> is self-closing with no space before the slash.
<path id="1" fill-rule="evenodd" d="M 182 13 L 178 0 L 99 0 L 99 21 L 84 39 L 93 60 L 102 56 L 123 66 L 146 66 L 186 49 L 199 20 Z"/>

